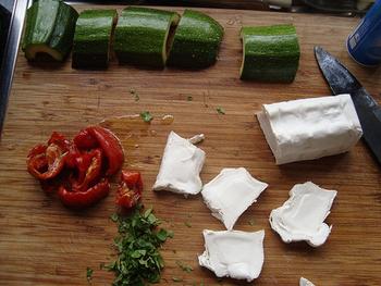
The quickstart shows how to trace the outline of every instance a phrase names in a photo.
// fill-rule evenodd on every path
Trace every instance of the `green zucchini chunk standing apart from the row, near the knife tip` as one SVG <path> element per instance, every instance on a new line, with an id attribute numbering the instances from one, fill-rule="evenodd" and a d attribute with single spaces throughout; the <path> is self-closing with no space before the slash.
<path id="1" fill-rule="evenodd" d="M 294 80 L 300 50 L 293 25 L 243 27 L 241 79 L 291 83 Z"/>

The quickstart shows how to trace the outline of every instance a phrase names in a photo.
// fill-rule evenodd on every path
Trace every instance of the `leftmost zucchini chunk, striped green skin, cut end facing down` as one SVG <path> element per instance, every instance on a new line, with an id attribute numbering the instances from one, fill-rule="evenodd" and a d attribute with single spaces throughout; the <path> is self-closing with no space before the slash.
<path id="1" fill-rule="evenodd" d="M 78 13 L 61 0 L 38 0 L 27 10 L 23 51 L 28 60 L 47 53 L 63 61 L 72 48 Z"/>

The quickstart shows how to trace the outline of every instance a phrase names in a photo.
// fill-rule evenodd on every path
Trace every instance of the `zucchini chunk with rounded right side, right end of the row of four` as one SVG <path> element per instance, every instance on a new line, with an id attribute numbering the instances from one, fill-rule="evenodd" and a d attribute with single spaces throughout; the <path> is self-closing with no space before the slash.
<path id="1" fill-rule="evenodd" d="M 212 65 L 223 37 L 223 27 L 212 17 L 185 10 L 175 30 L 168 65 L 202 69 Z"/>

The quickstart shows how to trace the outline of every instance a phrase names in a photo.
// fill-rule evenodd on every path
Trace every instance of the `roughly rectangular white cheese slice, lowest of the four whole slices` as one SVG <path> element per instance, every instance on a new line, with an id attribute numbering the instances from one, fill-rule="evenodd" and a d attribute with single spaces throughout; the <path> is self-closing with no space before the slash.
<path id="1" fill-rule="evenodd" d="M 232 277 L 250 282 L 262 270 L 265 231 L 246 233 L 238 231 L 212 232 L 205 229 L 205 252 L 198 262 L 218 277 Z"/>

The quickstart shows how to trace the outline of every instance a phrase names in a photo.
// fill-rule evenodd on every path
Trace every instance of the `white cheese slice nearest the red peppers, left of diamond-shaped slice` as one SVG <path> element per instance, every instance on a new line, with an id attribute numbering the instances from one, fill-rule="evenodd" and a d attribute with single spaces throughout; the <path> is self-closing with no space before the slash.
<path id="1" fill-rule="evenodd" d="M 198 194 L 202 187 L 199 173 L 204 161 L 205 152 L 201 149 L 171 132 L 153 190 L 169 190 L 185 196 Z"/>

